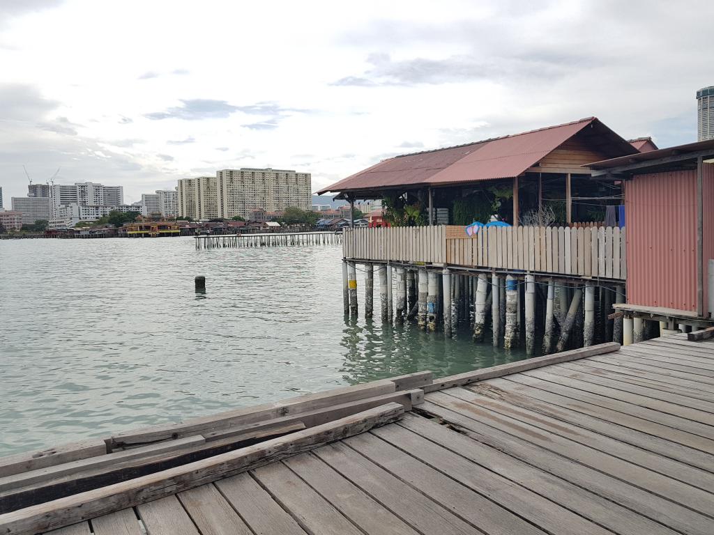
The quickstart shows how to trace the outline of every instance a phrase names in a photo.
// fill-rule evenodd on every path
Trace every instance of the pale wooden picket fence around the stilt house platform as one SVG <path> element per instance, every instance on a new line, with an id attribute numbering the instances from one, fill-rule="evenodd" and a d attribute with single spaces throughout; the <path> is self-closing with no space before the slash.
<path id="1" fill-rule="evenodd" d="M 625 279 L 625 230 L 617 227 L 346 229 L 345 258 L 463 267 L 493 267 Z"/>

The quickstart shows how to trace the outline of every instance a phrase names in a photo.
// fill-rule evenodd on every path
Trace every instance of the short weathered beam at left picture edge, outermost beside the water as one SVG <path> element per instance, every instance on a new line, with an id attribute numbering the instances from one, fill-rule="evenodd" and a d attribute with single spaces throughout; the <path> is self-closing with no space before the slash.
<path id="1" fill-rule="evenodd" d="M 0 477 L 11 476 L 30 470 L 53 467 L 56 464 L 89 459 L 106 454 L 106 443 L 102 439 L 89 439 L 58 447 L 24 452 L 8 457 L 0 457 Z"/>

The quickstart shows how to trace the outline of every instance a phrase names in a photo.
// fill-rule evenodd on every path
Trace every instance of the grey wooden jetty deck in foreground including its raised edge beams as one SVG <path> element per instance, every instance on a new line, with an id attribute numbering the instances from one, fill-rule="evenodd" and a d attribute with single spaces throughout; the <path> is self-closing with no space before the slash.
<path id="1" fill-rule="evenodd" d="M 6 512 L 0 534 L 714 533 L 714 340 L 412 374 L 107 444 L 225 436 L 246 418 L 305 429 Z"/>

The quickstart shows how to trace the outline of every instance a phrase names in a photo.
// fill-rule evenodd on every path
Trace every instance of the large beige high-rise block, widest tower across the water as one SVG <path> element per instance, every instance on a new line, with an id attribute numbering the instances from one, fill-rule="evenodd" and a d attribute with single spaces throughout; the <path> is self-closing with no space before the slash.
<path id="1" fill-rule="evenodd" d="M 251 210 L 268 212 L 311 207 L 311 175 L 283 169 L 223 169 L 218 178 L 218 217 L 247 218 Z"/>

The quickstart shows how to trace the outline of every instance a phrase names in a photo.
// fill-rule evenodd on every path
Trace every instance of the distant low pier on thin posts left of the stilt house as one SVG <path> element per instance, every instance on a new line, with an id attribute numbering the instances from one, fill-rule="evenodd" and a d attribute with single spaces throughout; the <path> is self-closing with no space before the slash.
<path id="1" fill-rule="evenodd" d="M 336 245 L 342 233 L 330 231 L 303 233 L 251 233 L 196 236 L 196 249 L 224 247 L 294 247 L 297 245 Z"/>

